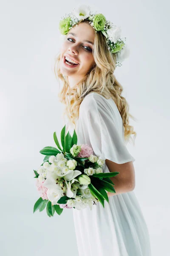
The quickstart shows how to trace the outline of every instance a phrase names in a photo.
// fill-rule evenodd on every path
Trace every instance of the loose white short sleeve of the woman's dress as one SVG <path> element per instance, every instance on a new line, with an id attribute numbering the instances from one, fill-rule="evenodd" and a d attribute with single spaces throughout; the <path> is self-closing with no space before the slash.
<path id="1" fill-rule="evenodd" d="M 88 144 L 94 154 L 115 163 L 135 161 L 118 131 L 111 109 L 101 96 L 87 96 L 79 108 L 78 143 Z M 80 136 L 79 136 L 80 135 Z"/>

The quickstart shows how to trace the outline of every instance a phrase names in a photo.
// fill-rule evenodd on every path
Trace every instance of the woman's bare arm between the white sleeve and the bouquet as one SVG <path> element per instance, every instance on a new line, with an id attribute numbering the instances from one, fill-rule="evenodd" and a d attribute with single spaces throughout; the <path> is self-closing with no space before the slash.
<path id="1" fill-rule="evenodd" d="M 110 172 L 120 172 L 115 177 L 110 177 L 110 179 L 115 184 L 113 187 L 116 193 L 108 192 L 108 196 L 133 191 L 135 188 L 135 169 L 133 166 L 133 161 L 119 164 L 106 159 L 105 163 Z"/>

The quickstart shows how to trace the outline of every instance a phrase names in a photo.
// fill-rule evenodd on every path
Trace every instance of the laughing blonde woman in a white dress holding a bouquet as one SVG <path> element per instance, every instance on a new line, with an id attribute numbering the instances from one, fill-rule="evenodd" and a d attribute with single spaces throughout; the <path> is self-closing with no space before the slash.
<path id="1" fill-rule="evenodd" d="M 77 145 L 87 143 L 105 160 L 103 172 L 120 173 L 111 178 L 116 193 L 108 192 L 104 208 L 97 202 L 91 210 L 73 209 L 79 256 L 150 256 L 147 225 L 133 191 L 135 159 L 125 146 L 136 132 L 128 124 L 128 104 L 113 75 L 116 54 L 88 17 L 91 13 L 86 10 L 77 26 L 62 33 L 65 38 L 55 67 L 63 81 L 59 99 L 70 125 L 74 124 Z"/>

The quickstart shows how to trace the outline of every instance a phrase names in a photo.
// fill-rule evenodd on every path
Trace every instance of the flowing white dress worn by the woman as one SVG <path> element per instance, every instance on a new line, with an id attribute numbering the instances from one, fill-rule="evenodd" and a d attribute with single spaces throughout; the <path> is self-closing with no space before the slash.
<path id="1" fill-rule="evenodd" d="M 77 145 L 90 145 L 103 160 L 135 161 L 126 148 L 115 102 L 98 93 L 88 94 L 80 105 L 77 139 Z M 106 164 L 103 172 L 109 172 Z M 147 225 L 134 191 L 104 202 L 105 208 L 97 202 L 92 210 L 72 210 L 79 256 L 151 256 Z"/>

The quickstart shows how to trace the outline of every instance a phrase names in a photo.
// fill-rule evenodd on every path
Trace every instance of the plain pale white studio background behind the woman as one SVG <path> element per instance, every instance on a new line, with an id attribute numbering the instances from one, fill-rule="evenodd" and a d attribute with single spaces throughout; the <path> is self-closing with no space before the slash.
<path id="1" fill-rule="evenodd" d="M 65 122 L 52 71 L 59 19 L 81 1 L 3 1 L 0 8 L 0 254 L 78 256 L 72 210 L 33 214 L 39 198 L 33 169 L 39 151 L 55 146 Z M 83 3 L 83 2 L 82 2 Z M 73 5 L 74 4 L 74 5 Z M 170 105 L 169 2 L 86 1 L 122 28 L 131 55 L 116 78 L 137 121 L 135 193 L 150 233 L 152 255 L 169 256 Z M 97 9 L 96 9 L 97 7 Z"/>

